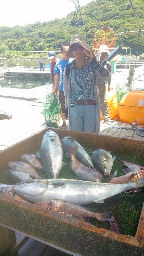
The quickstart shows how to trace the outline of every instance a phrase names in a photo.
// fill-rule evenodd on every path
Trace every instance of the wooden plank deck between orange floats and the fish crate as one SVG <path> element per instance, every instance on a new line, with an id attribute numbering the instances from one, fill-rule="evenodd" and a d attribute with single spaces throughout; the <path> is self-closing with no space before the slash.
<path id="1" fill-rule="evenodd" d="M 110 125 L 120 125 L 120 126 L 125 126 L 125 127 L 131 127 L 130 123 L 121 121 L 120 119 L 115 120 Z M 140 128 L 141 126 L 144 126 L 144 125 L 139 125 L 138 128 Z M 144 140 L 144 137 L 138 136 L 135 131 L 112 128 L 112 127 L 109 127 L 108 124 L 104 124 L 103 121 L 100 122 L 100 134 L 131 138 L 131 139 L 135 139 L 135 140 Z"/>

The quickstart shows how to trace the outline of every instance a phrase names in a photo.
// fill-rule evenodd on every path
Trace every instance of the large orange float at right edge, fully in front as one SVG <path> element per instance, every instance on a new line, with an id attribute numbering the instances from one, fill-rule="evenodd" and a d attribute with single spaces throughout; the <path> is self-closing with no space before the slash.
<path id="1" fill-rule="evenodd" d="M 125 94 L 119 103 L 118 112 L 122 121 L 144 123 L 144 91 Z"/>

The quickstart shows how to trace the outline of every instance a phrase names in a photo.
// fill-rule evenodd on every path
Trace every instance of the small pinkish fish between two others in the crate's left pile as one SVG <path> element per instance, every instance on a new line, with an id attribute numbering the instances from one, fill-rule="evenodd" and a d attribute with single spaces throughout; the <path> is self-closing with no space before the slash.
<path id="1" fill-rule="evenodd" d="M 34 179 L 40 179 L 41 177 L 36 173 L 36 169 L 31 166 L 30 164 L 23 162 L 23 161 L 11 161 L 8 163 L 8 166 L 12 170 L 16 170 L 19 172 L 25 172 L 27 173 L 30 177 Z"/>

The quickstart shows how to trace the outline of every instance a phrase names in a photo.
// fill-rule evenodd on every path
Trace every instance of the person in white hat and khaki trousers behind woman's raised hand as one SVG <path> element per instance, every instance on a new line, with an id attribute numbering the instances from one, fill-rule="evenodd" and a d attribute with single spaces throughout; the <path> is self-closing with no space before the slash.
<path id="1" fill-rule="evenodd" d="M 102 64 L 107 58 L 108 58 L 108 47 L 106 45 L 101 45 L 97 54 L 96 58 L 100 63 Z M 105 65 L 105 68 L 107 68 L 111 72 L 111 65 L 110 62 L 107 61 L 107 64 Z M 108 92 L 110 91 L 110 81 L 104 81 L 100 78 L 98 78 L 98 88 L 99 88 L 99 96 L 100 96 L 100 105 L 101 105 L 101 112 L 102 116 L 104 118 L 105 123 L 112 123 L 114 120 L 110 119 L 109 116 L 109 110 L 108 110 L 108 102 L 107 102 L 107 91 L 106 91 L 106 84 L 108 83 Z"/>

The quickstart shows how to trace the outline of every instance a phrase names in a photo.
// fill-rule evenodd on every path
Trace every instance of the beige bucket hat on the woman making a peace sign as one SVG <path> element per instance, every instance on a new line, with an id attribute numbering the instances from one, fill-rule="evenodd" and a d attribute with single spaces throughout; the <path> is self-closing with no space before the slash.
<path id="1" fill-rule="evenodd" d="M 70 46 L 68 48 L 68 50 L 66 51 L 66 55 L 69 57 L 69 58 L 75 58 L 75 56 L 73 55 L 73 51 L 71 49 L 71 46 L 73 44 L 80 44 L 81 46 L 84 47 L 85 51 L 90 54 L 90 48 L 91 48 L 91 45 L 89 45 L 86 41 L 86 38 L 85 36 L 81 35 L 81 34 L 77 34 L 77 35 L 74 35 L 70 41 Z M 92 52 L 94 53 L 94 49 L 92 48 Z"/>

